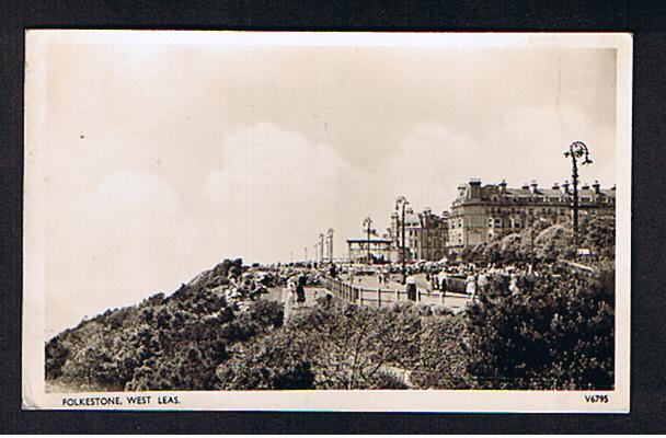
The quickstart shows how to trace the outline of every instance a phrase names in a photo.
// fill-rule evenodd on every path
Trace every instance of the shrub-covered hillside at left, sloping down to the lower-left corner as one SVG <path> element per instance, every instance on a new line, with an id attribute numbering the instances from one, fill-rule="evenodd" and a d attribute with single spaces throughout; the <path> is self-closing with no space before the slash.
<path id="1" fill-rule="evenodd" d="M 46 379 L 91 390 L 213 389 L 228 348 L 283 323 L 263 279 L 225 261 L 169 297 L 82 321 L 46 344 Z"/>

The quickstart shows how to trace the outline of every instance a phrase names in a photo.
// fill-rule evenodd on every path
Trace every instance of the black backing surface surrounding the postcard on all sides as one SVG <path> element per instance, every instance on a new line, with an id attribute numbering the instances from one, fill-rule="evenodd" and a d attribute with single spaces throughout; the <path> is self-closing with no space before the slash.
<path id="1" fill-rule="evenodd" d="M 666 2 L 5 1 L 0 23 L 0 433 L 666 431 Z M 631 414 L 22 412 L 23 32 L 30 27 L 634 33 Z"/>

